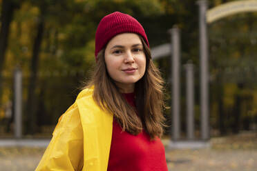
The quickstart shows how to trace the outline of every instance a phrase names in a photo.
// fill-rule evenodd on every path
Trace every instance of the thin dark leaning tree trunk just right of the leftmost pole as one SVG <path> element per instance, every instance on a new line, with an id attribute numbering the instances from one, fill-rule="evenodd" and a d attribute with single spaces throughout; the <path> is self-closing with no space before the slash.
<path id="1" fill-rule="evenodd" d="M 39 52 L 41 47 L 41 42 L 43 40 L 44 34 L 44 15 L 41 14 L 39 19 L 37 37 L 35 37 L 32 59 L 30 64 L 30 79 L 28 84 L 28 101 L 27 101 L 27 113 L 28 113 L 28 130 L 29 134 L 34 134 L 37 132 L 37 114 L 35 113 L 37 103 L 35 96 L 35 88 L 37 83 L 37 70 L 39 66 Z"/>

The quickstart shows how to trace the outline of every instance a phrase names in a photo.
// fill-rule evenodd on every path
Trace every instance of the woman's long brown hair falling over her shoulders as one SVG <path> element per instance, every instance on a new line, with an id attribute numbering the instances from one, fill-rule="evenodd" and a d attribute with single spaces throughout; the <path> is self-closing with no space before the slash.
<path id="1" fill-rule="evenodd" d="M 146 54 L 146 71 L 144 76 L 135 83 L 136 109 L 126 102 L 109 76 L 104 61 L 105 48 L 97 54 L 95 70 L 86 88 L 94 86 L 93 99 L 100 108 L 113 113 L 123 130 L 136 135 L 144 129 L 151 139 L 155 139 L 155 137 L 161 137 L 163 133 L 164 81 L 151 60 L 149 47 L 142 37 L 140 39 Z"/>

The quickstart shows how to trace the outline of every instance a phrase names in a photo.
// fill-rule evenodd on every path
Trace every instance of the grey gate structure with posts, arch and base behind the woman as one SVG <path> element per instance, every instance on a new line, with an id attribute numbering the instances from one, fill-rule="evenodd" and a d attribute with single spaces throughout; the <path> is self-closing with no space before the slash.
<path id="1" fill-rule="evenodd" d="M 180 137 L 180 30 L 173 26 L 169 30 L 171 43 L 165 43 L 152 48 L 153 59 L 171 57 L 171 141 L 170 148 L 206 148 L 209 147 L 210 123 L 209 123 L 209 51 L 207 39 L 207 24 L 213 23 L 231 14 L 240 12 L 256 12 L 257 1 L 232 1 L 216 6 L 208 10 L 207 0 L 197 2 L 199 6 L 199 41 L 200 41 L 200 139 L 194 136 L 194 92 L 193 92 L 193 63 L 189 61 L 184 68 L 186 70 L 186 94 L 187 94 L 187 139 L 181 141 Z M 6 145 L 48 145 L 48 140 L 28 141 L 22 139 L 22 101 L 21 101 L 21 70 L 17 68 L 14 76 L 14 106 L 15 106 L 15 139 L 2 139 L 0 146 Z"/>

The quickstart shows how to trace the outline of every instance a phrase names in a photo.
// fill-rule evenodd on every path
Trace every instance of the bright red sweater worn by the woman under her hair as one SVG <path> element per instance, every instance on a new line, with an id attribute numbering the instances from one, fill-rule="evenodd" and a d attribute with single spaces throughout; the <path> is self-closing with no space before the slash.
<path id="1" fill-rule="evenodd" d="M 126 101 L 135 106 L 133 93 L 124 94 Z M 151 141 L 144 130 L 136 136 L 122 132 L 113 119 L 113 135 L 108 171 L 167 171 L 164 145 L 159 138 Z"/>

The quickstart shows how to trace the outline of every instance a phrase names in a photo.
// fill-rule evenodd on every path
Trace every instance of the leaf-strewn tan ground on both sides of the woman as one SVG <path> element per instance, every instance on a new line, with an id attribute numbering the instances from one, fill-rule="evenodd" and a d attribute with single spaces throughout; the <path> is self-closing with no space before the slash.
<path id="1" fill-rule="evenodd" d="M 35 170 L 43 153 L 44 148 L 0 148 L 0 170 Z M 166 160 L 170 171 L 256 171 L 257 134 L 213 138 L 211 149 L 166 150 Z"/>

